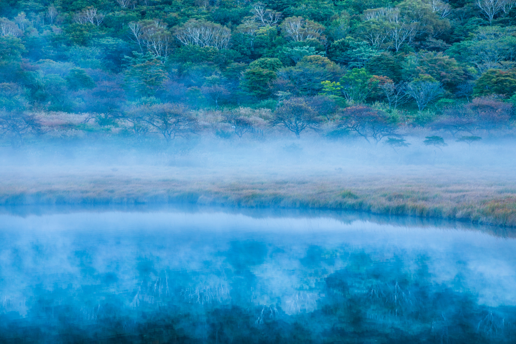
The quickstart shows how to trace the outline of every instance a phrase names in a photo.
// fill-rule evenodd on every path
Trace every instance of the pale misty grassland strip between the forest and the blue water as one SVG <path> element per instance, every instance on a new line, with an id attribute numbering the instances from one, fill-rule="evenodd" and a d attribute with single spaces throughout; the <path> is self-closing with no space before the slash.
<path id="1" fill-rule="evenodd" d="M 429 134 L 408 146 L 354 137 L 46 140 L 0 150 L 0 202 L 355 209 L 516 225 L 516 145 Z"/>

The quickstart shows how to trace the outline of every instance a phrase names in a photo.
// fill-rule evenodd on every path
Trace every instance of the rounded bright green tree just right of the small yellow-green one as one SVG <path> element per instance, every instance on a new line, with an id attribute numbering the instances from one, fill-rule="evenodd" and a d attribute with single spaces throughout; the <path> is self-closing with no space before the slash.
<path id="1" fill-rule="evenodd" d="M 346 72 L 340 83 L 346 100 L 358 104 L 363 103 L 373 88 L 378 85 L 378 81 L 364 68 L 355 68 Z"/>

